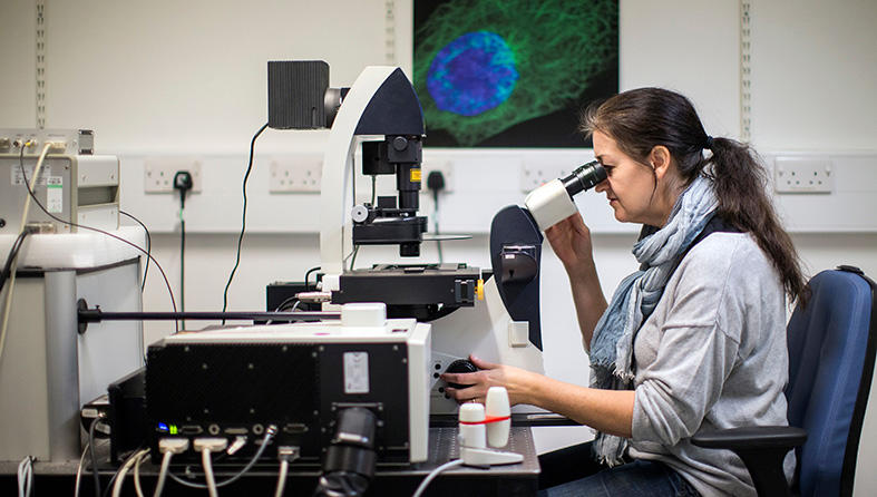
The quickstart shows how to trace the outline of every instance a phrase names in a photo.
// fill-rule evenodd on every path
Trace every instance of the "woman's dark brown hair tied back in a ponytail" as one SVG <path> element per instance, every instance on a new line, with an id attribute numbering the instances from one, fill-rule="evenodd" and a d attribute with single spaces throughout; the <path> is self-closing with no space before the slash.
<path id="1" fill-rule="evenodd" d="M 624 91 L 588 107 L 579 129 L 588 136 L 595 130 L 608 135 L 622 152 L 643 164 L 655 146 L 665 146 L 685 185 L 698 175 L 710 177 L 719 199 L 717 215 L 752 233 L 789 298 L 806 302 L 800 259 L 768 197 L 767 172 L 758 155 L 740 142 L 707 135 L 688 98 L 662 88 Z M 704 156 L 704 148 L 712 154 Z"/>

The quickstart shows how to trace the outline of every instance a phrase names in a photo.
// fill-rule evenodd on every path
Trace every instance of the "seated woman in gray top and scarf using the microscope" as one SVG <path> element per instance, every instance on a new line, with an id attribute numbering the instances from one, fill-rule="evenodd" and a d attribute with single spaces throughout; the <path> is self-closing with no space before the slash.
<path id="1" fill-rule="evenodd" d="M 787 425 L 786 296 L 802 298 L 805 279 L 764 170 L 744 145 L 707 135 L 691 103 L 664 89 L 588 109 L 582 131 L 608 176 L 596 191 L 616 220 L 644 225 L 633 250 L 641 271 L 608 305 L 582 216 L 545 232 L 569 276 L 592 388 L 472 358 L 481 371 L 444 377 L 470 387 L 447 391 L 483 401 L 504 386 L 513 403 L 598 431 L 589 447 L 598 465 L 572 461 L 593 475 L 545 495 L 754 495 L 737 456 L 690 438 Z M 786 462 L 788 476 L 793 455 Z"/>

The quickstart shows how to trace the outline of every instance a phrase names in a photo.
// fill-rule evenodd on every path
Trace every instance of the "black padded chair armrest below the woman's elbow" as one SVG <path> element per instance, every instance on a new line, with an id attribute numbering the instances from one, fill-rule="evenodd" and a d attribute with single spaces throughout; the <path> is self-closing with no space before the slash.
<path id="1" fill-rule="evenodd" d="M 698 433 L 691 442 L 698 447 L 730 450 L 781 449 L 803 445 L 807 430 L 788 426 L 743 427 Z"/>

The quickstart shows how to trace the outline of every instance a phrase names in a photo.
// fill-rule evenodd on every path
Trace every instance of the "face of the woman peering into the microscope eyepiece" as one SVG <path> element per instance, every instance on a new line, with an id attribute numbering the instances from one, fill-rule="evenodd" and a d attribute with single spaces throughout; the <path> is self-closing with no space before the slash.
<path id="1" fill-rule="evenodd" d="M 653 202 L 657 196 L 654 169 L 621 152 L 615 139 L 605 133 L 595 130 L 593 138 L 594 155 L 607 176 L 595 189 L 606 192 L 615 218 L 622 223 L 662 226 L 669 212 L 657 212 Z"/>

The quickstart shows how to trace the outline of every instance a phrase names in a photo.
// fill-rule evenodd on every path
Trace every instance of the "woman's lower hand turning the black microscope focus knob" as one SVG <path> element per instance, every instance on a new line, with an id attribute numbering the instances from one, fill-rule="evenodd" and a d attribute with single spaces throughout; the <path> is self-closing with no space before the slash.
<path id="1" fill-rule="evenodd" d="M 475 355 L 469 355 L 469 360 L 480 371 L 472 373 L 445 373 L 441 376 L 441 379 L 448 383 L 470 386 L 464 389 L 445 388 L 448 396 L 457 402 L 476 401 L 484 403 L 487 390 L 490 387 L 505 387 L 511 406 L 532 403 L 529 400 L 532 398 L 530 393 L 537 387 L 539 379 L 543 378 L 540 374 L 511 366 L 483 361 Z"/>

